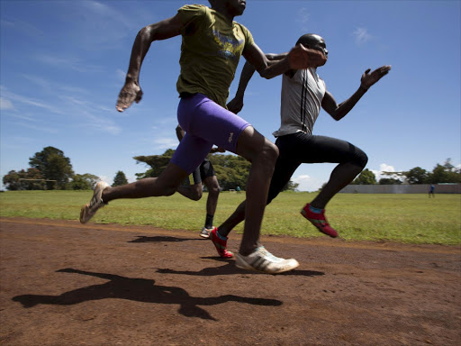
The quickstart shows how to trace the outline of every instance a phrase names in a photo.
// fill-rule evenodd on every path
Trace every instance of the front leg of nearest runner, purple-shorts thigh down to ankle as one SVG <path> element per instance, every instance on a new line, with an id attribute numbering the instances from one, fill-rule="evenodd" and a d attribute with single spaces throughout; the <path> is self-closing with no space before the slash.
<path id="1" fill-rule="evenodd" d="M 190 118 L 188 112 L 192 107 L 194 107 L 194 123 L 200 125 L 188 129 L 187 118 Z M 187 112 L 183 114 L 183 111 Z M 249 255 L 258 248 L 267 191 L 278 156 L 276 146 L 238 115 L 216 105 L 201 94 L 181 100 L 178 107 L 178 121 L 186 132 L 180 146 L 183 145 L 189 131 L 208 143 L 230 150 L 251 162 L 247 182 L 247 222 L 240 244 L 240 254 Z M 240 132 L 240 129 L 244 130 Z M 238 138 L 236 146 L 235 141 L 232 141 L 233 138 Z M 211 146 L 208 151 L 210 149 Z"/>

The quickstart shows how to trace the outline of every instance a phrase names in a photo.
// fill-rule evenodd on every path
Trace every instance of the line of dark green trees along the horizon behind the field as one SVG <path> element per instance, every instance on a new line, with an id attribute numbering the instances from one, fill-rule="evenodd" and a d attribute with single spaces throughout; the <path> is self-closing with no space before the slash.
<path id="1" fill-rule="evenodd" d="M 161 155 L 135 156 L 137 163 L 144 163 L 149 169 L 137 173 L 136 178 L 158 177 L 167 167 L 175 150 L 168 149 Z M 245 188 L 249 177 L 251 164 L 246 159 L 236 155 L 223 155 L 214 153 L 209 155 L 216 177 L 224 190 Z M 99 177 L 90 174 L 76 174 L 70 159 L 62 150 L 46 147 L 36 152 L 29 158 L 30 168 L 19 171 L 10 170 L 3 178 L 6 189 L 13 190 L 91 190 Z M 461 168 L 455 168 L 451 159 L 443 165 L 437 164 L 432 171 L 420 167 L 411 168 L 409 171 L 384 172 L 386 178 L 376 181 L 375 173 L 364 169 L 351 183 L 352 185 L 391 185 L 391 184 L 439 184 L 461 183 Z M 125 174 L 119 170 L 113 178 L 113 187 L 127 184 Z M 292 180 L 285 186 L 285 190 L 296 190 L 298 184 Z"/>

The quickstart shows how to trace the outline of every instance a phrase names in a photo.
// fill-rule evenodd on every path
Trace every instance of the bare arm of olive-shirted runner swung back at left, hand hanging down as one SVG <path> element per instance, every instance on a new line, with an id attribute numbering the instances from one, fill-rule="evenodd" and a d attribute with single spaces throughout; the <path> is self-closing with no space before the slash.
<path id="1" fill-rule="evenodd" d="M 166 40 L 181 34 L 183 23 L 176 14 L 164 21 L 150 24 L 140 30 L 131 49 L 130 65 L 126 74 L 125 85 L 120 91 L 117 100 L 117 111 L 123 112 L 133 102 L 139 103 L 142 98 L 140 88 L 140 67 L 146 56 L 150 43 L 157 40 Z"/>

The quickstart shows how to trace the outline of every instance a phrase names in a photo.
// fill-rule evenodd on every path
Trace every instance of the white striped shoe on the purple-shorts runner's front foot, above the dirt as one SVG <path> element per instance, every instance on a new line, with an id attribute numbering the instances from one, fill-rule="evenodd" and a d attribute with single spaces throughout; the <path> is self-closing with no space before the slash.
<path id="1" fill-rule="evenodd" d="M 267 251 L 264 246 L 258 247 L 248 256 L 238 253 L 235 264 L 240 269 L 256 270 L 267 274 L 283 273 L 299 266 L 296 259 L 280 259 Z"/>

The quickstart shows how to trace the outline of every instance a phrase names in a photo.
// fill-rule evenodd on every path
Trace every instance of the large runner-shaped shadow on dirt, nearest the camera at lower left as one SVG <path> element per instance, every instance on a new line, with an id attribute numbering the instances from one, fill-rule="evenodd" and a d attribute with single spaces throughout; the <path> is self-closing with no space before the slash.
<path id="1" fill-rule="evenodd" d="M 189 296 L 185 289 L 155 285 L 155 280 L 147 278 L 125 278 L 119 275 L 94 273 L 78 269 L 59 269 L 59 273 L 75 273 L 109 280 L 104 284 L 81 287 L 65 292 L 59 296 L 23 295 L 14 296 L 13 301 L 25 308 L 39 304 L 75 305 L 92 300 L 107 298 L 127 299 L 142 303 L 179 305 L 179 314 L 186 317 L 198 317 L 204 320 L 217 321 L 199 305 L 209 306 L 227 302 L 239 302 L 250 305 L 279 306 L 283 302 L 276 299 L 249 298 L 245 296 L 216 296 L 201 298 Z"/>

